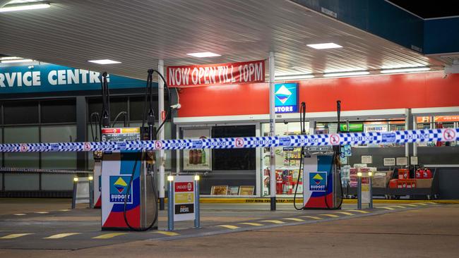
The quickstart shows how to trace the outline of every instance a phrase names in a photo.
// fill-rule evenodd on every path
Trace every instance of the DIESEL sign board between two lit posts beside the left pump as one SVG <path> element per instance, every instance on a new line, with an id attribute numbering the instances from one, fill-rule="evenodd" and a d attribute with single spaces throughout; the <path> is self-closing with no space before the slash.
<path id="1" fill-rule="evenodd" d="M 174 221 L 196 218 L 193 176 L 176 176 L 174 180 Z"/>

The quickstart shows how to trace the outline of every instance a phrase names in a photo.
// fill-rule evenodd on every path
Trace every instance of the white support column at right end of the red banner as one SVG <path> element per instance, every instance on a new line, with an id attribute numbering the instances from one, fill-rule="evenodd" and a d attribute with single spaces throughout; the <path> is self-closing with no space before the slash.
<path id="1" fill-rule="evenodd" d="M 274 90 L 274 52 L 269 52 L 269 136 L 275 136 L 275 90 Z M 270 153 L 270 203 L 271 211 L 275 211 L 275 150 L 269 148 Z"/>

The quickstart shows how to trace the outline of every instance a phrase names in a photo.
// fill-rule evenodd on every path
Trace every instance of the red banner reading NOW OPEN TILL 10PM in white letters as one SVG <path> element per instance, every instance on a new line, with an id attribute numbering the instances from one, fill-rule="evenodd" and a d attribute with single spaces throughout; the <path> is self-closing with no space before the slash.
<path id="1" fill-rule="evenodd" d="M 169 87 L 265 82 L 265 61 L 168 66 Z"/>

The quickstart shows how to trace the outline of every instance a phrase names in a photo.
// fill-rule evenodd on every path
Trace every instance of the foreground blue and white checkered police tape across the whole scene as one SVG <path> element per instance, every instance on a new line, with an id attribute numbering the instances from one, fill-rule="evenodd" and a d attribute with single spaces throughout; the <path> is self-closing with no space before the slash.
<path id="1" fill-rule="evenodd" d="M 451 142 L 455 140 L 459 140 L 459 128 L 406 130 L 388 133 L 331 133 L 324 135 L 210 138 L 200 140 L 12 143 L 0 145 L 0 152 L 94 152 L 154 149 L 239 149 L 256 147 L 362 145 L 436 141 Z"/>

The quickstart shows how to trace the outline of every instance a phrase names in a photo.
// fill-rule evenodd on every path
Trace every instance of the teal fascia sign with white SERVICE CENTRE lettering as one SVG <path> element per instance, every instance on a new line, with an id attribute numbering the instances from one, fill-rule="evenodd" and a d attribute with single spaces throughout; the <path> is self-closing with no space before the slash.
<path id="1" fill-rule="evenodd" d="M 107 81 L 110 89 L 145 87 L 143 80 L 117 75 Z M 100 90 L 100 73 L 54 64 L 0 67 L 0 94 L 73 90 Z"/>

